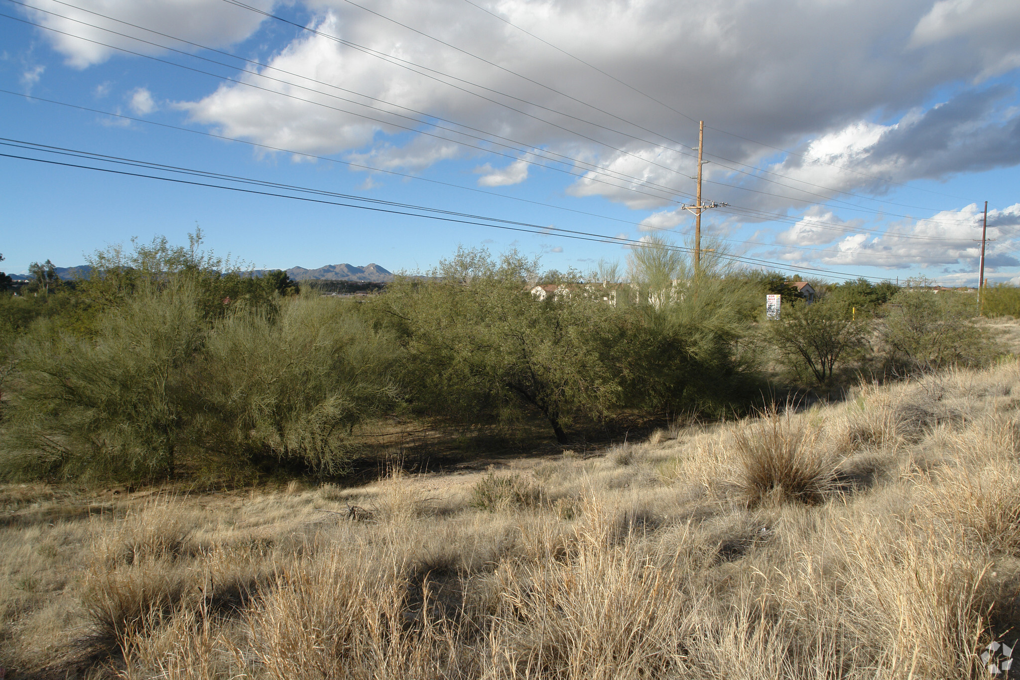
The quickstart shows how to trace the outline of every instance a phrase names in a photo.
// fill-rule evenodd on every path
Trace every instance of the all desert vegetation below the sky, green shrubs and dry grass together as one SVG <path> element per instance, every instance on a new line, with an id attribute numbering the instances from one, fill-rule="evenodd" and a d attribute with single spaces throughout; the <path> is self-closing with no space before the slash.
<path id="1" fill-rule="evenodd" d="M 0 297 L 5 677 L 970 678 L 1020 637 L 972 294 L 809 306 L 657 241 L 357 301 L 201 234 L 89 264 Z"/>

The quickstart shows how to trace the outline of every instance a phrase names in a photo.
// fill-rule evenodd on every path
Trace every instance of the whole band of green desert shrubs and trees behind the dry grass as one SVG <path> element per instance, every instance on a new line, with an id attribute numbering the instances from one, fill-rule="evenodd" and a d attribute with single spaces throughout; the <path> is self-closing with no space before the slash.
<path id="1" fill-rule="evenodd" d="M 373 455 L 380 423 L 606 441 L 1002 354 L 967 294 L 816 281 L 807 305 L 721 247 L 695 270 L 649 246 L 625 274 L 546 272 L 559 293 L 541 301 L 540 263 L 515 252 L 460 249 L 357 302 L 246 275 L 201 233 L 99 251 L 71 281 L 40 265 L 0 298 L 0 477 L 336 479 Z M 765 322 L 775 291 L 782 318 Z"/>

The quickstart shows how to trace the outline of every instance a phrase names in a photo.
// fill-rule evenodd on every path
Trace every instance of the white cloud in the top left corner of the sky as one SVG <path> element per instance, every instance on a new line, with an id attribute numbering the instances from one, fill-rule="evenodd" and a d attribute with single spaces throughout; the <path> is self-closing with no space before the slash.
<path id="1" fill-rule="evenodd" d="M 269 10 L 274 4 L 273 0 L 247 0 L 247 3 L 262 10 Z M 41 31 L 41 34 L 75 68 L 102 63 L 116 52 L 115 49 L 97 43 L 143 54 L 159 54 L 164 51 L 130 38 L 115 36 L 103 31 L 104 28 L 159 42 L 158 38 L 153 40 L 152 34 L 128 25 L 134 23 L 209 47 L 225 47 L 251 36 L 264 18 L 261 14 L 221 0 L 78 0 L 73 3 L 76 7 L 53 0 L 35 0 L 33 4 L 37 8 L 27 8 L 26 13 L 34 21 L 62 32 Z M 128 23 L 106 19 L 99 14 L 116 17 Z M 182 48 L 181 45 L 173 47 L 187 49 L 187 46 Z"/>

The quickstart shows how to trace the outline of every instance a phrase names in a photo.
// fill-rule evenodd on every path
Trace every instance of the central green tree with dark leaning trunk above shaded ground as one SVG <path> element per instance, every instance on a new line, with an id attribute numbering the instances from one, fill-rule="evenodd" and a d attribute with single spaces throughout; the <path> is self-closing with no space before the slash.
<path id="1" fill-rule="evenodd" d="M 457 419 L 532 408 L 557 440 L 571 419 L 598 419 L 618 400 L 612 308 L 576 274 L 540 301 L 538 261 L 460 248 L 424 280 L 402 278 L 377 301 L 405 348 L 405 384 L 418 409 Z"/>

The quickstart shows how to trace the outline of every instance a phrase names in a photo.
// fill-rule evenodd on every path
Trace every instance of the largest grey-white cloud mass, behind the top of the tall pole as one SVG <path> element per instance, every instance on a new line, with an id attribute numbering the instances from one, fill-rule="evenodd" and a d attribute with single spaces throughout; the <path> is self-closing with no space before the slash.
<path id="1" fill-rule="evenodd" d="M 673 200 L 686 200 L 693 194 L 690 175 L 695 173 L 694 159 L 684 145 L 693 145 L 696 123 L 622 90 L 618 84 L 483 12 L 453 8 L 441 0 L 380 0 L 373 5 L 373 9 L 384 14 L 400 17 L 409 25 L 589 101 L 619 118 L 564 99 L 551 90 L 341 0 L 315 0 L 309 6 L 319 12 L 313 25 L 321 33 L 355 41 L 382 55 L 422 64 L 435 69 L 431 72 L 437 75 L 425 77 L 395 65 L 392 60 L 345 48 L 328 38 L 299 34 L 271 58 L 271 66 L 322 83 L 342 84 L 370 99 L 350 93 L 344 93 L 345 98 L 382 110 L 302 90 L 296 86 L 311 87 L 311 84 L 268 70 L 267 75 L 291 80 L 295 86 L 246 75 L 246 81 L 271 92 L 223 86 L 213 95 L 192 103 L 194 118 L 261 143 L 277 145 L 287 140 L 291 147 L 308 153 L 393 144 L 388 136 L 403 135 L 406 127 L 451 140 L 428 138 L 428 145 L 442 147 L 460 142 L 468 145 L 468 149 L 484 146 L 472 137 L 443 129 L 451 126 L 449 123 L 437 123 L 435 118 L 413 112 L 421 111 L 475 128 L 466 135 L 496 139 L 498 144 L 507 143 L 518 149 L 542 148 L 553 155 L 581 160 L 581 164 L 570 168 L 586 171 L 570 188 L 569 193 L 574 196 L 601 195 L 631 208 L 659 209 Z M 667 0 L 650 0 L 635 6 L 611 0 L 601 2 L 599 11 L 592 11 L 584 2 L 538 5 L 533 0 L 491 0 L 487 6 L 585 60 L 612 64 L 615 75 L 655 93 L 674 108 L 704 117 L 714 127 L 773 146 L 805 145 L 802 148 L 810 158 L 849 159 L 860 164 L 857 168 L 860 172 L 885 169 L 881 164 L 871 168 L 874 163 L 869 165 L 868 158 L 878 150 L 883 138 L 892 140 L 897 137 L 895 130 L 900 129 L 896 122 L 872 122 L 875 110 L 905 111 L 923 106 L 935 89 L 955 79 L 973 80 L 990 63 L 987 58 L 957 46 L 945 31 L 925 28 L 937 23 L 926 18 L 934 9 L 925 0 L 908 0 L 891 8 L 880 0 L 863 0 L 863 5 L 853 3 L 853 6 L 846 3 L 805 6 L 784 0 L 768 7 L 747 6 L 738 0 L 696 0 L 694 6 L 678 6 Z M 996 11 L 1002 15 L 1000 19 L 1013 14 L 1012 10 Z M 873 21 L 870 17 L 875 13 L 880 13 L 883 21 Z M 702 18 L 696 18 L 699 16 Z M 726 25 L 726 31 L 720 33 L 717 30 L 720 25 Z M 832 25 L 839 25 L 840 30 L 833 32 Z M 987 25 L 987 20 L 975 25 Z M 992 50 L 997 54 L 1006 50 L 997 49 Z M 442 82 L 449 79 L 443 73 L 484 85 L 490 89 L 484 93 L 488 99 L 471 94 L 477 92 L 473 86 L 458 82 L 456 85 L 461 88 L 458 90 L 444 85 Z M 312 89 L 341 95 L 320 86 Z M 508 101 L 501 93 L 525 100 L 512 102 L 524 115 L 490 101 Z M 284 95 L 310 99 L 333 109 L 288 100 Z M 970 97 L 968 94 L 966 99 Z M 753 102 L 753 106 L 748 102 Z M 997 110 L 1001 111 L 1001 98 L 992 106 L 999 106 Z M 344 110 L 337 111 L 338 108 Z M 923 123 L 913 125 L 915 133 L 934 125 L 938 116 L 927 113 L 930 112 L 922 110 L 914 114 Z M 981 115 L 977 110 L 971 113 Z M 563 114 L 604 127 L 581 123 Z M 620 118 L 654 132 L 638 129 Z M 992 137 L 1010 132 L 1006 127 L 1015 118 L 1014 114 L 1009 121 L 986 124 L 983 134 Z M 402 127 L 397 127 L 398 124 Z M 479 135 L 477 130 L 482 133 Z M 966 137 L 964 132 L 963 127 L 957 130 L 960 141 Z M 982 133 L 971 132 L 978 137 Z M 591 139 L 579 139 L 578 133 Z M 507 140 L 519 143 L 519 147 Z M 711 129 L 706 144 L 709 153 L 736 162 L 756 164 L 772 154 L 764 147 Z M 504 146 L 493 148 L 507 151 Z M 1008 153 L 1000 156 L 1004 158 L 992 162 L 1009 162 L 1005 160 Z M 880 160 L 885 165 L 903 166 L 897 176 L 888 177 L 897 180 L 909 179 L 911 172 L 929 176 L 961 171 L 968 166 L 967 159 L 958 159 L 955 164 L 934 163 L 927 169 L 922 167 L 923 162 L 906 157 L 899 161 L 887 157 Z M 941 160 L 952 160 L 952 156 L 946 155 Z M 815 176 L 819 167 L 812 165 L 801 176 L 795 176 L 794 181 L 785 182 L 789 187 L 779 187 L 760 176 L 734 173 L 723 161 L 715 162 L 714 166 L 706 166 L 708 198 L 740 201 L 764 209 L 804 208 L 810 202 L 818 202 L 818 190 L 805 181 L 833 181 L 835 189 L 847 191 L 874 181 L 860 173 L 838 171 L 829 173 L 835 176 L 826 176 L 824 171 Z M 567 161 L 561 167 L 569 165 Z M 511 167 L 512 172 L 487 174 L 482 177 L 483 186 L 506 186 L 521 177 L 526 169 L 516 163 Z M 775 169 L 797 175 L 799 162 L 781 163 Z M 756 195 L 712 181 L 736 185 L 743 190 L 765 189 L 782 196 Z"/>

